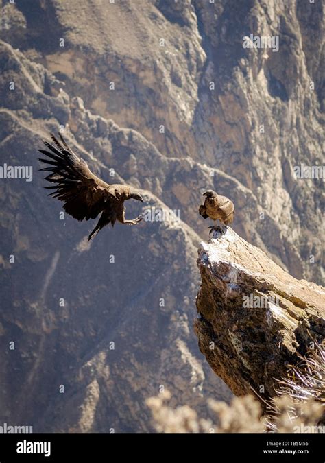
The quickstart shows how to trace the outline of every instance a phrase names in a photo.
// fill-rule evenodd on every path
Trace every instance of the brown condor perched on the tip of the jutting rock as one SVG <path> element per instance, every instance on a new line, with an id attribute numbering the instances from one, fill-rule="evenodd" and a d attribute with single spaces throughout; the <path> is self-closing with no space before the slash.
<path id="1" fill-rule="evenodd" d="M 206 196 L 204 204 L 199 208 L 199 214 L 204 219 L 210 217 L 215 222 L 219 220 L 224 225 L 229 225 L 234 219 L 234 204 L 226 196 L 221 196 L 213 190 L 208 190 L 202 194 Z M 214 228 L 214 227 L 212 227 Z"/>

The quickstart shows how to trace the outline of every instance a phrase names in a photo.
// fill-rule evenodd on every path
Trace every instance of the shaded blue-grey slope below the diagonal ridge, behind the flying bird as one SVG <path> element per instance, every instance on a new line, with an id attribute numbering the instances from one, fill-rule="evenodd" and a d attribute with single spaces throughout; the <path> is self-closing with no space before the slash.
<path id="1" fill-rule="evenodd" d="M 169 163 L 136 130 L 93 115 L 8 43 L 0 43 L 0 61 L 1 154 L 33 168 L 31 182 L 0 182 L 1 422 L 147 432 L 145 399 L 164 388 L 175 405 L 185 399 L 202 414 L 206 396 L 227 401 L 231 392 L 202 365 L 191 329 L 200 238 L 157 197 L 169 176 L 189 176 L 191 160 Z M 142 188 L 148 220 L 116 224 L 87 244 L 93 224 L 62 215 L 38 172 L 41 139 L 61 123 L 99 176 Z M 128 217 L 140 212 L 128 204 Z"/>

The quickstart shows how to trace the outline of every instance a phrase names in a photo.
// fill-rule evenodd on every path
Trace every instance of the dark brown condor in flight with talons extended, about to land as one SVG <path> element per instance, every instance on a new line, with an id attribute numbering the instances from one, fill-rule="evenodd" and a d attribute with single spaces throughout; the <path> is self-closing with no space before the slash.
<path id="1" fill-rule="evenodd" d="M 43 140 L 49 151 L 38 150 L 47 156 L 45 159 L 40 158 L 40 161 L 47 164 L 47 167 L 40 170 L 49 171 L 50 174 L 45 178 L 55 184 L 45 187 L 55 190 L 49 196 L 63 201 L 64 211 L 72 217 L 88 220 L 95 219 L 101 213 L 88 241 L 104 226 L 114 226 L 116 220 L 121 224 L 138 224 L 142 219 L 141 215 L 136 219 L 126 220 L 123 204 L 130 198 L 143 202 L 142 196 L 128 185 L 109 185 L 95 176 L 86 161 L 71 150 L 61 134 L 59 136 L 62 143 L 51 134 L 55 146 Z"/>

